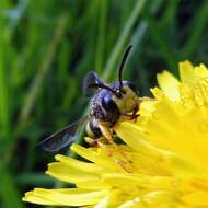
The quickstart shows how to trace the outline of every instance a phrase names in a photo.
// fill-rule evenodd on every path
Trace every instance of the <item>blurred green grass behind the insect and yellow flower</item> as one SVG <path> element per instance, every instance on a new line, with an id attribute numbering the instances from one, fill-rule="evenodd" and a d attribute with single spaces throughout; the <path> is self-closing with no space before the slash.
<path id="1" fill-rule="evenodd" d="M 54 155 L 34 148 L 82 116 L 89 70 L 115 80 L 132 44 L 124 77 L 150 95 L 161 70 L 208 62 L 207 28 L 206 0 L 0 0 L 0 207 L 62 186 L 44 174 Z"/>

